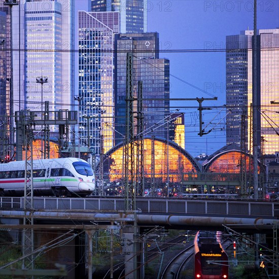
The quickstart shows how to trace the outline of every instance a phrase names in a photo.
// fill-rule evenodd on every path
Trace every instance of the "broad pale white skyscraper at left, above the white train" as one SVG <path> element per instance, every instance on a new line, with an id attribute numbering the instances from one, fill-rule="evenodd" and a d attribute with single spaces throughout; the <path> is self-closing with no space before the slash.
<path id="1" fill-rule="evenodd" d="M 74 2 L 26 0 L 13 10 L 13 48 L 25 50 L 13 53 L 15 112 L 44 111 L 45 101 L 50 111 L 73 109 Z"/>

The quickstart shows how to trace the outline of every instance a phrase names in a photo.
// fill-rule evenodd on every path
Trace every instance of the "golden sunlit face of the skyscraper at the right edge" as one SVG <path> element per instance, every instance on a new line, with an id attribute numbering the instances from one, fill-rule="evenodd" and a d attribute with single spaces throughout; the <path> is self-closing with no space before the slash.
<path id="1" fill-rule="evenodd" d="M 260 29 L 258 35 L 258 99 L 260 100 L 260 109 L 258 110 L 258 140 L 263 137 L 264 154 L 275 154 L 279 150 L 279 115 L 278 96 L 279 96 L 279 28 Z M 248 104 L 252 103 L 252 53 L 248 57 Z M 270 104 L 275 101 L 275 104 Z M 252 117 L 250 108 L 248 108 L 248 117 Z M 250 126 L 249 126 L 250 127 Z M 260 128 L 260 129 L 259 129 Z M 248 129 L 250 131 L 250 128 Z M 260 143 L 258 143 L 260 146 Z M 264 155 L 263 154 L 263 155 Z"/>

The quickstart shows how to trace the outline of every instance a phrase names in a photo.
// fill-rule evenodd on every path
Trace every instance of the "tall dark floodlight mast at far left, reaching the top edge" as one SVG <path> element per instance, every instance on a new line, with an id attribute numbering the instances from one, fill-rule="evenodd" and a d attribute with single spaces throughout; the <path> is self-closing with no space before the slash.
<path id="1" fill-rule="evenodd" d="M 14 122 L 12 120 L 13 114 L 14 114 L 14 94 L 13 94 L 13 15 L 12 15 L 12 8 L 13 6 L 18 6 L 18 0 L 4 0 L 4 6 L 9 6 L 10 8 L 10 59 L 11 59 L 11 65 L 10 65 L 10 144 L 14 145 Z M 4 43 L 4 41 L 2 40 Z"/>

